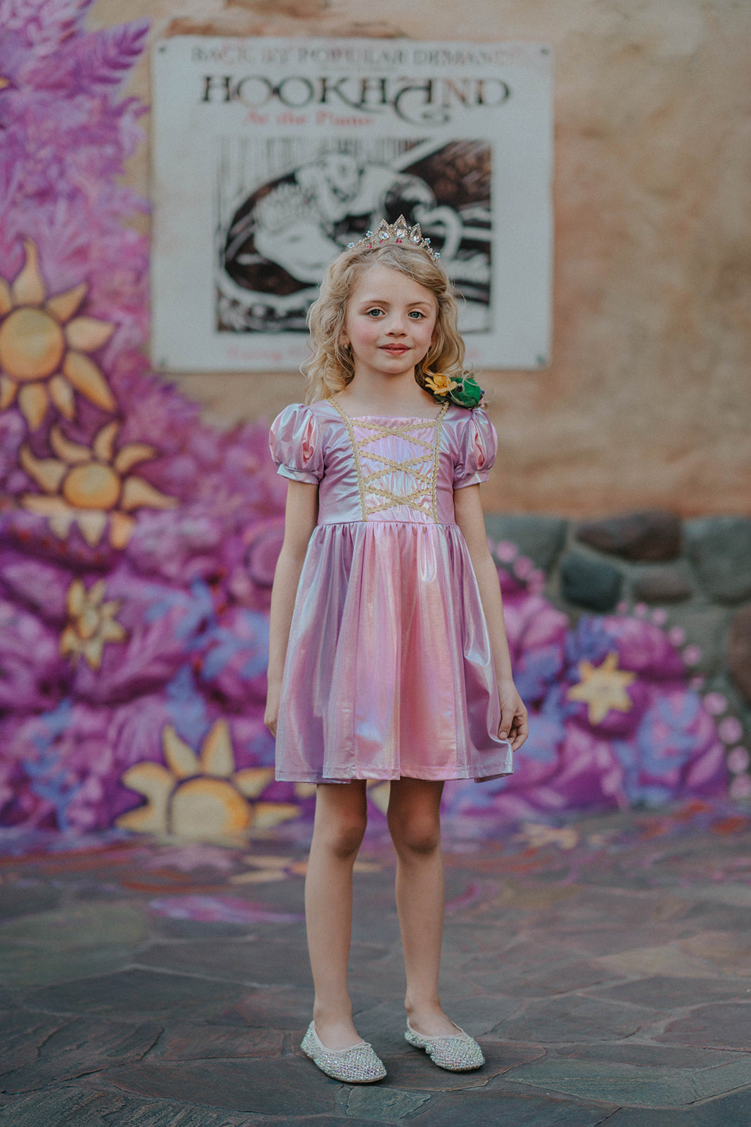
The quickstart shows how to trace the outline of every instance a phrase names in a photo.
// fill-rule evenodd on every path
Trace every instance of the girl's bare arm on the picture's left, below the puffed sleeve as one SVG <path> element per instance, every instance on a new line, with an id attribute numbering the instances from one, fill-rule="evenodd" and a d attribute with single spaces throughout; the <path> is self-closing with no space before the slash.
<path id="1" fill-rule="evenodd" d="M 289 624 L 295 595 L 303 569 L 307 542 L 319 517 L 319 487 L 306 481 L 287 482 L 287 506 L 284 517 L 284 543 L 274 573 L 271 621 L 269 627 L 268 693 L 263 724 L 276 736 L 279 716 L 281 673 L 287 655 Z"/>

